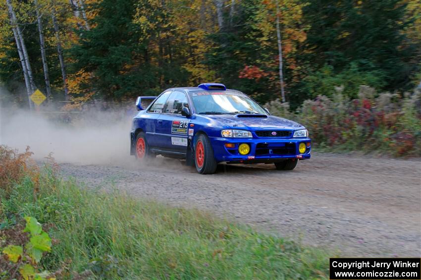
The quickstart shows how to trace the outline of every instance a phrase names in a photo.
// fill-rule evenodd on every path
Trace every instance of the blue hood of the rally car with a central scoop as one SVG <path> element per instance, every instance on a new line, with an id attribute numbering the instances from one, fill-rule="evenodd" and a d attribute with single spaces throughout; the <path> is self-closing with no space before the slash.
<path id="1" fill-rule="evenodd" d="M 262 115 L 260 115 L 262 116 Z M 260 129 L 304 129 L 305 127 L 295 121 L 268 115 L 264 118 L 253 115 L 208 115 L 211 120 L 219 121 L 231 128 L 260 130 Z"/>

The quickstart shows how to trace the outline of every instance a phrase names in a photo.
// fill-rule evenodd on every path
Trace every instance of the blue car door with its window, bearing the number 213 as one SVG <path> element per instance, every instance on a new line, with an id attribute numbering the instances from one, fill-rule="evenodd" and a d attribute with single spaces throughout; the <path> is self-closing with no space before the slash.
<path id="1" fill-rule="evenodd" d="M 183 153 L 187 151 L 189 119 L 181 116 L 183 107 L 190 108 L 186 93 L 172 91 L 158 118 L 157 133 L 164 150 Z"/>

